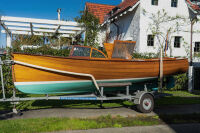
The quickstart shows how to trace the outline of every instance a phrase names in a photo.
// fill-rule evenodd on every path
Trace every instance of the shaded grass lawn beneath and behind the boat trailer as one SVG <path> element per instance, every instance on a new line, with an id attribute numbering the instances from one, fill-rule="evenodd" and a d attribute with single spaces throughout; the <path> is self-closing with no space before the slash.
<path id="1" fill-rule="evenodd" d="M 170 96 L 155 100 L 156 106 L 177 105 L 177 104 L 200 104 L 200 95 L 190 94 L 186 91 L 165 91 Z M 19 97 L 41 97 L 44 95 L 18 94 Z M 132 106 L 128 101 L 105 101 L 104 107 Z M 99 108 L 99 101 L 61 101 L 61 100 L 40 100 L 25 101 L 17 105 L 17 109 L 44 109 L 44 108 Z M 12 105 L 9 102 L 0 103 L 0 110 L 10 110 Z"/>

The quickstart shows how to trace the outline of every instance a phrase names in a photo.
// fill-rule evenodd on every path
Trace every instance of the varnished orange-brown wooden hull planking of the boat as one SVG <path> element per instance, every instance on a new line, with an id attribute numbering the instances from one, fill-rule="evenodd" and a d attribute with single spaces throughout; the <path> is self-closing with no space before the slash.
<path id="1" fill-rule="evenodd" d="M 160 71 L 159 59 L 76 59 L 40 55 L 13 54 L 13 60 L 56 70 L 91 74 L 95 77 L 97 82 L 144 82 L 145 80 L 157 78 Z M 188 60 L 165 58 L 163 60 L 163 66 L 164 76 L 185 73 L 188 70 Z M 85 88 L 91 86 L 92 84 L 91 79 L 88 77 L 44 71 L 19 64 L 15 64 L 13 66 L 13 79 L 15 85 L 18 86 L 17 88 L 20 88 L 20 85 L 28 84 L 31 86 L 33 84 L 35 85 L 36 83 L 48 84 L 53 82 L 56 84 L 65 82 L 66 85 L 69 82 L 73 82 L 74 85 L 88 82 L 88 85 L 85 86 Z M 25 86 L 23 86 L 23 89 L 24 87 Z M 71 86 L 71 88 L 73 87 Z M 77 86 L 74 88 L 77 88 Z M 26 91 L 23 92 L 26 93 Z M 59 92 L 60 91 L 58 91 L 58 93 Z M 27 91 L 27 93 L 29 92 Z M 34 92 L 31 91 L 30 93 Z M 36 93 L 41 94 L 41 92 Z M 48 92 L 44 93 L 47 94 Z M 61 93 L 65 93 L 65 91 Z"/>

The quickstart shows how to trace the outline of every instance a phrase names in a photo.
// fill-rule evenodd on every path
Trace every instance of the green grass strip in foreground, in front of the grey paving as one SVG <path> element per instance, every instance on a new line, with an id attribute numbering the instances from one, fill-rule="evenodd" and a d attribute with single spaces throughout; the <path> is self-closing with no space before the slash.
<path id="1" fill-rule="evenodd" d="M 64 130 L 87 130 L 108 127 L 152 126 L 164 123 L 199 123 L 200 114 L 189 115 L 162 115 L 138 117 L 111 117 L 98 118 L 36 118 L 0 121 L 1 133 L 40 133 Z"/>

